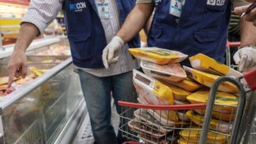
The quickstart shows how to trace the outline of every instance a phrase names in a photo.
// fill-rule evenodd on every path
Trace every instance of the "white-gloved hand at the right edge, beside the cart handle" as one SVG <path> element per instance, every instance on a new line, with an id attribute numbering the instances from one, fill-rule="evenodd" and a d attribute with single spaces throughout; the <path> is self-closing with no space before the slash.
<path id="1" fill-rule="evenodd" d="M 239 65 L 239 71 L 256 67 L 256 49 L 252 47 L 243 47 L 234 54 L 234 61 Z"/>

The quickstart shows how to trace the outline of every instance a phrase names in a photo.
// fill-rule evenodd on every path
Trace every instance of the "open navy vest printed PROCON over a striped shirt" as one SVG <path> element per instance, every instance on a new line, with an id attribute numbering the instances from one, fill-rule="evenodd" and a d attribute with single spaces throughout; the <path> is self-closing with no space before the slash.
<path id="1" fill-rule="evenodd" d="M 116 0 L 120 20 L 124 22 L 134 7 L 135 0 Z M 67 0 L 63 3 L 67 36 L 74 65 L 82 68 L 102 68 L 102 51 L 106 47 L 106 36 L 100 22 L 95 0 Z M 140 47 L 136 36 L 129 47 Z"/>

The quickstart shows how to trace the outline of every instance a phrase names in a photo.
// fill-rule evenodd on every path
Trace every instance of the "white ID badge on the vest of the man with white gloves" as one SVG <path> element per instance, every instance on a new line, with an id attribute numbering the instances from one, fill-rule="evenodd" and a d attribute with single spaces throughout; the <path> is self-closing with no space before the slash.
<path id="1" fill-rule="evenodd" d="M 170 0 L 170 14 L 176 17 L 180 17 L 182 9 L 182 0 Z"/>

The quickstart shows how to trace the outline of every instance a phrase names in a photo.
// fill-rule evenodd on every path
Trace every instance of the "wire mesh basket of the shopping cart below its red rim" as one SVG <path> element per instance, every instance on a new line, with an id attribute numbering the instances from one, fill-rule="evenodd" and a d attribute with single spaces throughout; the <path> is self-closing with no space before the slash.
<path id="1" fill-rule="evenodd" d="M 148 144 L 198 143 L 205 119 L 205 104 L 140 104 L 140 99 L 136 95 L 133 97 L 133 102 L 118 102 L 122 107 L 122 126 L 119 130 L 127 141 Z M 207 143 L 228 143 L 237 106 L 215 104 L 214 109 L 220 112 L 214 113 L 215 119 L 211 122 Z"/>

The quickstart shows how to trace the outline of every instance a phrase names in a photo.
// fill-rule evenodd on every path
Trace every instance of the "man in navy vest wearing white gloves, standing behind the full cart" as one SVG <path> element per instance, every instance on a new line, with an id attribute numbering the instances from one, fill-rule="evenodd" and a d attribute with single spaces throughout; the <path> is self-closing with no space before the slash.
<path id="1" fill-rule="evenodd" d="M 145 25 L 154 8 L 156 9 L 152 26 L 148 33 L 148 46 L 172 49 L 189 56 L 206 54 L 215 60 L 224 62 L 227 44 L 228 23 L 232 4 L 242 6 L 243 0 L 137 0 L 137 4 L 116 34 L 124 44 Z M 256 29 L 252 23 L 241 20 L 241 43 L 255 45 Z M 115 41 L 106 49 L 115 51 Z M 250 51 L 252 48 L 244 49 Z M 113 52 L 111 52 L 113 53 Z M 243 55 L 245 52 L 242 52 Z M 108 57 L 106 57 L 108 56 Z M 241 56 L 243 57 L 243 56 Z M 103 61 L 116 58 L 113 54 L 103 54 Z M 252 55 L 248 60 L 253 60 Z M 182 64 L 189 65 L 186 60 Z M 244 65 L 244 63 L 239 63 Z M 244 65 L 248 68 L 251 65 Z"/>

